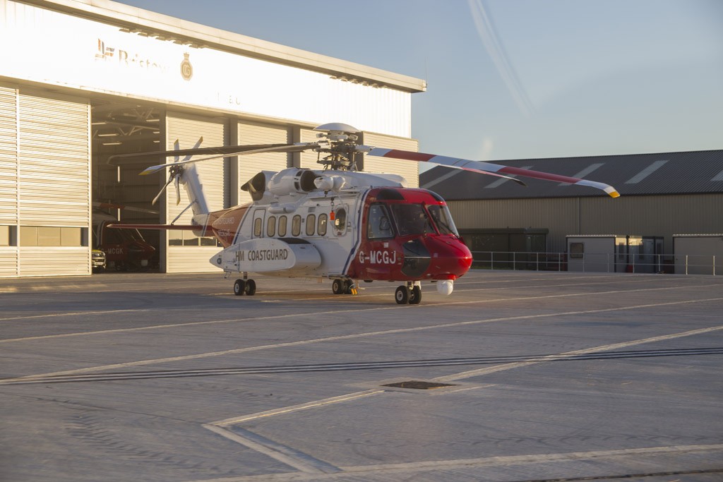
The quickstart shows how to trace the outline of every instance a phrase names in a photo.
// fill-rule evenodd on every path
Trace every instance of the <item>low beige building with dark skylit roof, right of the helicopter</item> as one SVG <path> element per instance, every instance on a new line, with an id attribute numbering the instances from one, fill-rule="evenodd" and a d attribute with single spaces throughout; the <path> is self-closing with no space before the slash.
<path id="1" fill-rule="evenodd" d="M 479 251 L 565 253 L 566 236 L 622 235 L 654 240 L 654 254 L 672 260 L 675 235 L 723 233 L 723 150 L 499 162 L 602 181 L 620 197 L 528 178 L 523 187 L 439 167 L 422 173 L 420 186 L 447 200 L 460 231 L 484 236 Z M 487 249 L 495 239 L 503 249 Z"/>

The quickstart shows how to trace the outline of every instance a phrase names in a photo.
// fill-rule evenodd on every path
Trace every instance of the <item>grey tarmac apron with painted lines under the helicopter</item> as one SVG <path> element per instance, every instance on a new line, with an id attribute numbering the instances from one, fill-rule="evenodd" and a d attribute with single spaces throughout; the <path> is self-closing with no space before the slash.
<path id="1" fill-rule="evenodd" d="M 255 279 L 0 279 L 0 480 L 723 480 L 723 277 Z"/>

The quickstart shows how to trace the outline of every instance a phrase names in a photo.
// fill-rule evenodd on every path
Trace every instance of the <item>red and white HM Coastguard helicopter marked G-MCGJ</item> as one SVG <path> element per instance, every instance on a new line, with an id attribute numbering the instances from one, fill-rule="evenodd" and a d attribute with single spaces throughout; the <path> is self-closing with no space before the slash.
<path id="1" fill-rule="evenodd" d="M 527 176 L 602 189 L 611 197 L 617 191 L 594 181 L 530 171 L 528 169 L 449 158 L 403 150 L 360 145 L 359 131 L 348 124 L 318 126 L 317 142 L 296 144 L 196 147 L 166 152 L 116 155 L 124 158 L 176 157 L 176 162 L 153 165 L 142 174 L 168 168 L 166 186 L 184 186 L 193 210 L 191 225 L 117 225 L 118 228 L 184 229 L 196 236 L 213 235 L 224 249 L 210 263 L 227 275 L 239 273 L 236 295 L 253 295 L 256 283 L 249 273 L 281 277 L 328 278 L 335 294 L 356 293 L 359 280 L 396 281 L 398 304 L 419 304 L 422 282 L 435 282 L 437 291 L 449 295 L 453 283 L 472 264 L 472 255 L 461 240 L 447 205 L 426 189 L 410 189 L 395 174 L 356 170 L 359 156 L 429 162 L 502 178 L 524 185 Z M 321 170 L 288 168 L 277 173 L 261 171 L 241 189 L 252 202 L 211 212 L 194 163 L 257 152 L 319 153 Z M 192 159 L 195 155 L 210 157 Z M 179 160 L 180 156 L 187 156 Z"/>

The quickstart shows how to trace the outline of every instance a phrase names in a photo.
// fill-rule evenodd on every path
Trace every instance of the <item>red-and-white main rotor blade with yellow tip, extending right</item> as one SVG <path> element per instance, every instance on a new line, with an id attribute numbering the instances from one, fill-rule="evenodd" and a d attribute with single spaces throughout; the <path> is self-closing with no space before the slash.
<path id="1" fill-rule="evenodd" d="M 576 184 L 578 186 L 589 186 L 595 189 L 602 189 L 610 197 L 619 197 L 620 194 L 614 187 L 602 182 L 587 181 L 586 179 L 573 178 L 569 176 L 560 176 L 559 174 L 544 173 L 541 171 L 532 171 L 531 169 L 514 168 L 510 165 L 501 165 L 495 163 L 485 163 L 480 160 L 469 160 L 460 158 L 449 158 L 444 155 L 424 154 L 424 152 L 414 152 L 408 150 L 383 149 L 381 147 L 372 147 L 367 151 L 368 155 L 375 155 L 380 158 L 393 158 L 401 160 L 414 160 L 420 163 L 433 163 L 445 165 L 448 168 L 462 169 L 463 171 L 471 171 L 476 173 L 492 174 L 492 176 L 525 176 L 529 178 L 542 179 L 544 181 L 565 182 L 568 184 Z M 514 181 L 519 181 L 513 178 Z"/>

